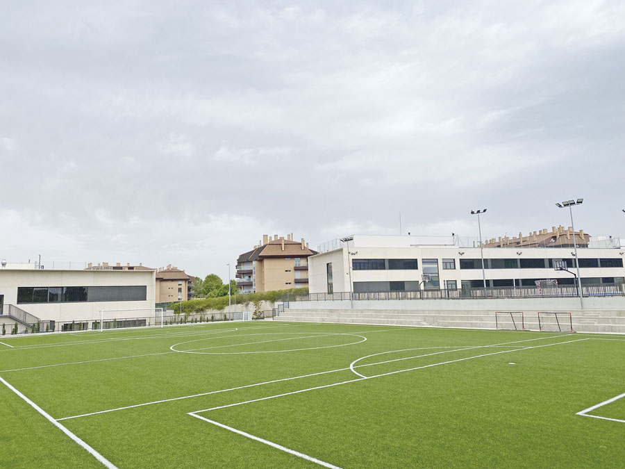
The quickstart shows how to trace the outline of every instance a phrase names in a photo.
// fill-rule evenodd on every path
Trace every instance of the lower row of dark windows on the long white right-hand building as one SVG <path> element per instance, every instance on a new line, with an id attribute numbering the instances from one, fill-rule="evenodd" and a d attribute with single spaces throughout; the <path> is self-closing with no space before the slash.
<path id="1" fill-rule="evenodd" d="M 543 279 L 490 279 L 486 281 L 486 286 L 488 288 L 497 288 L 497 287 L 510 287 L 514 286 L 536 286 L 537 280 Z M 619 285 L 625 283 L 625 277 L 589 277 L 585 279 L 581 279 L 582 285 L 584 286 L 592 286 L 592 285 Z M 353 283 L 353 291 L 354 293 L 376 293 L 376 292 L 408 292 L 408 291 L 418 291 L 419 290 L 419 281 L 355 281 Z M 567 279 L 558 279 L 559 286 L 574 286 L 575 279 L 567 278 Z M 484 282 L 482 279 L 479 280 L 462 280 L 462 288 L 483 288 Z M 422 288 L 430 289 L 438 289 L 440 285 L 438 283 L 438 279 L 435 282 L 426 282 L 422 284 Z M 458 284 L 456 280 L 447 280 L 445 282 L 445 288 L 447 290 L 456 290 L 458 288 Z M 328 292 L 332 293 L 332 292 Z"/>

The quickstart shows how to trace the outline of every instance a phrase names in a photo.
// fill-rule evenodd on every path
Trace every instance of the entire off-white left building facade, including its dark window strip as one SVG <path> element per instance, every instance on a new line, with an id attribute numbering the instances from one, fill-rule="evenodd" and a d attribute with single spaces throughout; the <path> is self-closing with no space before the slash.
<path id="1" fill-rule="evenodd" d="M 154 314 L 155 298 L 153 270 L 0 270 L 0 318 L 9 305 L 47 321 L 138 317 Z"/>

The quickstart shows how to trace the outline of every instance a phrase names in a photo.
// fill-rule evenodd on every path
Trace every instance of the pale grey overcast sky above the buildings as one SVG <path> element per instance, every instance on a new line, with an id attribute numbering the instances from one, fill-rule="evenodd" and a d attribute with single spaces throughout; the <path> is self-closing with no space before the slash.
<path id="1" fill-rule="evenodd" d="M 227 277 L 265 234 L 625 236 L 625 3 L 12 1 L 0 258 Z"/>

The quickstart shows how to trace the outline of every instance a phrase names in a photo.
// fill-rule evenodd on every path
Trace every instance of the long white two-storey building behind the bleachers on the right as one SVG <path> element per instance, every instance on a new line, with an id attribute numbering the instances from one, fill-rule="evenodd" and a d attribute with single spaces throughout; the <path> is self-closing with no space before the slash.
<path id="1" fill-rule="evenodd" d="M 584 238 L 585 239 L 585 238 Z M 327 243 L 326 243 L 327 245 Z M 572 245 L 571 245 L 572 246 Z M 624 249 L 577 249 L 583 286 L 625 282 Z M 459 247 L 450 236 L 349 236 L 308 258 L 310 293 L 574 286 L 573 247 Z M 569 270 L 554 270 L 562 265 Z M 483 274 L 484 272 L 484 274 Z M 622 287 L 621 287 L 622 288 Z"/>

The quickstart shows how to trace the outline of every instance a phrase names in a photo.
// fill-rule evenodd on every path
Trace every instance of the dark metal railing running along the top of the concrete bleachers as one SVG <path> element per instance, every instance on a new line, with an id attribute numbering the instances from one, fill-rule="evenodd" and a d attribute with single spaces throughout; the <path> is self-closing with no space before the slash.
<path id="1" fill-rule="evenodd" d="M 622 284 L 582 286 L 584 297 L 625 296 Z M 292 298 L 292 301 L 327 302 L 341 300 L 389 300 L 389 299 L 507 299 L 507 298 L 560 298 L 578 297 L 576 286 L 558 286 L 552 288 L 537 287 L 494 287 L 494 288 L 461 288 L 453 290 L 426 289 L 408 292 L 369 292 L 369 293 L 310 293 L 306 296 Z M 288 303 L 287 303 L 288 304 Z M 288 308 L 288 306 L 285 307 Z"/>

